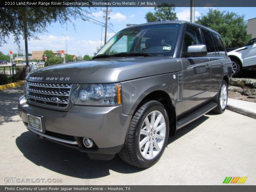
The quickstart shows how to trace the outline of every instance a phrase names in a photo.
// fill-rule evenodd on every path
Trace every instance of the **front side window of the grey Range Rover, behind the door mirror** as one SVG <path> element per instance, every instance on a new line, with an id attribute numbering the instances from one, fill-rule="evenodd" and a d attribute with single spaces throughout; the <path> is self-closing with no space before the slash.
<path id="1" fill-rule="evenodd" d="M 187 26 L 183 42 L 183 52 L 187 52 L 188 46 L 196 44 L 202 44 L 199 28 Z"/>

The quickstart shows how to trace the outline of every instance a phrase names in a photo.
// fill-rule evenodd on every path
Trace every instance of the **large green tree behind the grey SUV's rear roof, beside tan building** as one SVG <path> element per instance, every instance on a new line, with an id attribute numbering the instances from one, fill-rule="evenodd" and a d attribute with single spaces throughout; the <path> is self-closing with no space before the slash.
<path id="1" fill-rule="evenodd" d="M 197 19 L 196 23 L 217 31 L 226 47 L 242 47 L 251 38 L 246 35 L 247 24 L 244 15 L 209 9 L 208 13 L 201 14 Z"/>

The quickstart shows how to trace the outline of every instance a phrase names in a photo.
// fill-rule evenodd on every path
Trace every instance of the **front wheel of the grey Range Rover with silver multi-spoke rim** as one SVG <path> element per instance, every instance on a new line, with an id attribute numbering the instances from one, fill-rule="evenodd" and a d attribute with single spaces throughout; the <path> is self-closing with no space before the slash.
<path id="1" fill-rule="evenodd" d="M 164 106 L 155 100 L 145 102 L 132 116 L 119 156 L 133 166 L 150 167 L 162 156 L 168 136 L 169 119 Z"/>

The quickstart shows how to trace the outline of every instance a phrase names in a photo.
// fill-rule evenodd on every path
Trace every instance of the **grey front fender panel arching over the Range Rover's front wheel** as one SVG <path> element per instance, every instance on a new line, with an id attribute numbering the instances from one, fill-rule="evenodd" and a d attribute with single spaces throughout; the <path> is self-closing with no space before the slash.
<path id="1" fill-rule="evenodd" d="M 151 92 L 166 92 L 172 104 L 177 102 L 177 72 L 122 82 L 124 114 L 132 115 L 140 102 Z"/>

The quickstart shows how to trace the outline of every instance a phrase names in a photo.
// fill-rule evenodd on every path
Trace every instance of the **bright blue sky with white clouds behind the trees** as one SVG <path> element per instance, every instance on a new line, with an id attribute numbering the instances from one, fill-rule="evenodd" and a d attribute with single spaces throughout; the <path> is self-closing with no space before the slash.
<path id="1" fill-rule="evenodd" d="M 214 9 L 217 7 L 214 7 Z M 200 14 L 206 14 L 209 7 L 196 7 L 195 18 Z M 236 12 L 239 15 L 244 14 L 245 20 L 256 17 L 255 7 L 218 7 L 221 11 Z M 88 10 L 88 8 L 87 8 Z M 111 28 L 107 32 L 107 41 L 115 35 L 116 32 L 126 27 L 126 24 L 141 24 L 146 23 L 145 15 L 147 12 L 154 12 L 154 7 L 112 7 L 108 20 L 108 26 Z M 105 23 L 103 19 L 104 13 L 101 8 L 91 8 L 89 17 Z M 190 7 L 176 7 L 175 12 L 179 20 L 190 20 Z M 105 28 L 95 25 L 91 22 L 84 21 L 82 19 L 72 20 L 75 25 L 75 29 L 72 23 L 61 26 L 59 23 L 52 23 L 47 26 L 48 32 L 39 33 L 37 36 L 40 40 L 31 39 L 28 41 L 28 52 L 42 51 L 42 50 L 64 50 L 65 49 L 65 37 L 67 40 L 67 52 L 68 54 L 76 56 L 84 56 L 88 54 L 93 56 L 96 52 L 96 47 L 104 45 L 104 33 Z M 62 35 L 64 34 L 64 35 Z M 24 50 L 24 41 L 21 41 L 21 48 Z M 0 51 L 4 54 L 8 54 L 9 51 L 15 53 L 18 52 L 18 46 L 14 43 L 14 38 L 11 36 L 4 44 L 0 47 Z"/>

